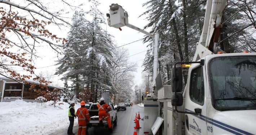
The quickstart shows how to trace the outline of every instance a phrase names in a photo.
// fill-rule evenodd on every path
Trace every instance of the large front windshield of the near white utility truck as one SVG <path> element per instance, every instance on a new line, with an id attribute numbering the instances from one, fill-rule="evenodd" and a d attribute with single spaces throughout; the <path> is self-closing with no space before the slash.
<path id="1" fill-rule="evenodd" d="M 209 72 L 217 110 L 256 109 L 256 56 L 217 57 Z"/>

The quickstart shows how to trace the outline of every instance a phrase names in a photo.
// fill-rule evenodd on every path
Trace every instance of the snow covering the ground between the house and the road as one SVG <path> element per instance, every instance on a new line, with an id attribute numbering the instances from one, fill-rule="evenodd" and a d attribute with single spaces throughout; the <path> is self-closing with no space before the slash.
<path id="1" fill-rule="evenodd" d="M 27 103 L 22 100 L 0 102 L 0 135 L 49 135 L 69 127 L 69 104 L 53 101 Z M 80 107 L 75 105 L 75 110 Z M 75 119 L 74 126 L 78 125 Z"/>

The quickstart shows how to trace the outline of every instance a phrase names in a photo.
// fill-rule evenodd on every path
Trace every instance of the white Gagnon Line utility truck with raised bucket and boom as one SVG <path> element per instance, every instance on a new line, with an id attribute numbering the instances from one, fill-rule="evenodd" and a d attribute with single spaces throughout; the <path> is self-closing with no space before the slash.
<path id="1" fill-rule="evenodd" d="M 256 134 L 256 53 L 225 53 L 216 47 L 225 4 L 226 0 L 207 0 L 193 61 L 176 57 L 171 85 L 163 85 L 158 74 L 158 33 L 129 24 L 127 11 L 110 5 L 110 27 L 127 26 L 154 38 L 153 89 L 158 100 L 144 101 L 145 135 Z M 182 70 L 187 71 L 184 90 Z"/>

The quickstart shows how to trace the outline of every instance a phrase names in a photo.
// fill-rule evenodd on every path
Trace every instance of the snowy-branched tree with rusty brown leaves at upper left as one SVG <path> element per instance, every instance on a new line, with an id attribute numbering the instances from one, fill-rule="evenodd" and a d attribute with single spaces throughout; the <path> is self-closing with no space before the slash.
<path id="1" fill-rule="evenodd" d="M 35 74 L 33 60 L 40 57 L 36 55 L 36 50 L 48 45 L 57 54 L 62 53 L 67 40 L 52 33 L 49 26 L 60 28 L 63 24 L 70 24 L 61 17 L 63 11 L 55 12 L 49 4 L 37 0 L 19 2 L 0 1 L 0 75 L 14 80 L 34 79 L 39 83 L 51 83 Z M 64 0 L 61 3 L 70 6 Z M 17 69 L 26 71 L 28 75 Z"/>

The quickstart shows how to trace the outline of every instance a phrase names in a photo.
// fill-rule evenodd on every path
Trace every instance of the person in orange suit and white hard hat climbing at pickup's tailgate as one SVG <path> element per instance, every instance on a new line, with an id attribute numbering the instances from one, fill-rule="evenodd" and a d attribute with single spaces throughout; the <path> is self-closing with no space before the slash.
<path id="1" fill-rule="evenodd" d="M 99 121 L 102 123 L 102 117 L 107 121 L 107 124 L 109 125 L 109 129 L 112 129 L 112 124 L 109 118 L 109 115 L 107 114 L 107 110 L 110 111 L 110 106 L 104 102 L 104 98 L 101 98 L 101 102 L 97 104 L 98 110 L 99 110 Z"/>

